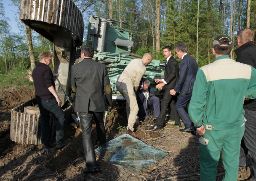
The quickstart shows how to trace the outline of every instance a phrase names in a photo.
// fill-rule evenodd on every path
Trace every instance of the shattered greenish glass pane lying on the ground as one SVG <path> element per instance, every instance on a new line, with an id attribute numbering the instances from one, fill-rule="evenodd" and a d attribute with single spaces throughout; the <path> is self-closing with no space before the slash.
<path id="1" fill-rule="evenodd" d="M 168 155 L 129 134 L 123 134 L 98 147 L 95 153 L 133 172 L 141 171 Z"/>

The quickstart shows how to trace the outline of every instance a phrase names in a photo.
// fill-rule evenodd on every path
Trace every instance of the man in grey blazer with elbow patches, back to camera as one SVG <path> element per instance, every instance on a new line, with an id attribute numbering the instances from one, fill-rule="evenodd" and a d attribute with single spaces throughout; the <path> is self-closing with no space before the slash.
<path id="1" fill-rule="evenodd" d="M 107 67 L 94 61 L 93 54 L 94 50 L 90 45 L 83 46 L 81 48 L 83 60 L 72 66 L 72 90 L 76 93 L 75 111 L 79 112 L 87 167 L 81 172 L 86 175 L 97 174 L 92 139 L 92 117 L 96 124 L 98 145 L 104 145 L 106 132 L 103 113 L 112 104 L 112 89 Z"/>

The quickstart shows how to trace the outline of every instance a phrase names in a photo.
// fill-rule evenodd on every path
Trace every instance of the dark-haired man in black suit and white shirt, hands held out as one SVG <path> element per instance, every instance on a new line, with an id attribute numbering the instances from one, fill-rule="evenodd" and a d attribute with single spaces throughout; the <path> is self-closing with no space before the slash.
<path id="1" fill-rule="evenodd" d="M 150 128 L 150 131 L 156 131 L 158 129 L 163 128 L 163 124 L 165 122 L 165 116 L 167 112 L 168 105 L 171 101 L 171 110 L 173 111 L 173 116 L 175 119 L 175 124 L 180 125 L 179 115 L 176 111 L 176 96 L 170 95 L 169 91 L 175 87 L 179 80 L 179 64 L 176 59 L 171 56 L 171 47 L 165 46 L 163 47 L 163 56 L 166 58 L 165 62 L 165 78 L 163 79 L 155 79 L 157 84 L 156 88 L 161 89 L 160 94 L 163 95 L 163 99 L 161 102 L 161 111 L 159 118 L 157 119 L 156 124 Z"/>

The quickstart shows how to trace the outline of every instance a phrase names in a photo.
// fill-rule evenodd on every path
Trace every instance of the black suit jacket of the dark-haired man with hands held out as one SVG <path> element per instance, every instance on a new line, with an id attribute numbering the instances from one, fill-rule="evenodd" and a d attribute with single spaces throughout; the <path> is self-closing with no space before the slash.
<path id="1" fill-rule="evenodd" d="M 171 56 L 165 65 L 165 78 L 164 78 L 165 84 L 163 86 L 164 89 L 173 89 L 175 88 L 175 85 L 178 83 L 179 80 L 179 64 L 174 59 L 173 56 Z"/>

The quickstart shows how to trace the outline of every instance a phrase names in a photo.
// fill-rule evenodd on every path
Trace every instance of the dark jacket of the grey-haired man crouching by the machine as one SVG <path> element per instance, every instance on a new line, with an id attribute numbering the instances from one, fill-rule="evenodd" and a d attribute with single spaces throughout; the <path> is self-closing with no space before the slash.
<path id="1" fill-rule="evenodd" d="M 150 98 L 155 96 L 155 93 L 150 87 L 148 88 L 148 90 L 149 90 L 149 99 L 147 100 L 147 103 L 149 104 L 150 103 Z M 145 94 L 144 94 L 144 92 L 142 92 L 142 90 L 140 90 L 140 89 L 137 90 L 136 99 L 137 99 L 137 103 L 138 103 L 138 106 L 139 106 L 138 116 L 143 117 L 145 114 L 146 114 L 146 116 L 148 116 L 148 114 L 149 114 L 148 109 L 147 109 L 148 105 L 146 103 Z M 143 115 L 143 116 L 140 116 L 140 115 Z"/>

